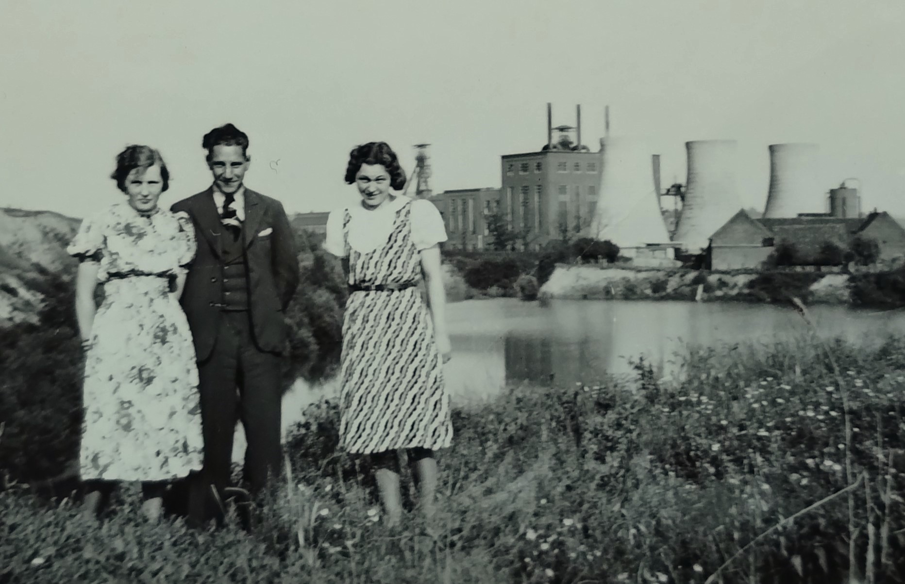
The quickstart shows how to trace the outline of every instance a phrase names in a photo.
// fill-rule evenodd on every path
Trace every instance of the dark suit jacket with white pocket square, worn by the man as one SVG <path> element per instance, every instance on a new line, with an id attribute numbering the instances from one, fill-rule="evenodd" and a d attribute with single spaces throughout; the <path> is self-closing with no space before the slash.
<path id="1" fill-rule="evenodd" d="M 224 226 L 211 187 L 175 203 L 171 210 L 187 212 L 195 224 L 198 250 L 188 266 L 180 303 L 195 338 L 195 356 L 204 361 L 214 350 L 222 316 L 224 259 L 219 238 Z M 243 240 L 254 344 L 267 353 L 283 353 L 288 341 L 285 311 L 299 286 L 295 235 L 282 204 L 247 187 Z"/>

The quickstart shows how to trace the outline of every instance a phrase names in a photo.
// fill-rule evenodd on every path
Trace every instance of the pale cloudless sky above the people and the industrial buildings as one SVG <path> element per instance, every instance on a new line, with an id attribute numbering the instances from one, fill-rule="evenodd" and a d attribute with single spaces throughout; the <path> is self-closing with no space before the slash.
<path id="1" fill-rule="evenodd" d="M 83 216 L 117 200 L 114 156 L 161 150 L 169 205 L 210 182 L 201 138 L 249 134 L 246 184 L 290 212 L 352 200 L 348 151 L 385 140 L 434 192 L 500 185 L 500 155 L 574 125 L 597 150 L 644 137 L 662 180 L 688 140 L 738 140 L 763 208 L 767 145 L 815 142 L 825 189 L 905 215 L 905 3 L 899 0 L 0 0 L 0 207 Z M 271 165 L 272 161 L 272 165 Z M 279 161 L 279 162 L 276 162 Z M 271 166 L 275 166 L 276 170 Z M 823 211 L 815 201 L 814 211 Z"/>

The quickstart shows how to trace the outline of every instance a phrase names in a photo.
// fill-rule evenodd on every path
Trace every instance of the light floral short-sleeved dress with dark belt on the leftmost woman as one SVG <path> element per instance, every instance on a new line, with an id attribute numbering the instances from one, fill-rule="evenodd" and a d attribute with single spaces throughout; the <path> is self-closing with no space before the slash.
<path id="1" fill-rule="evenodd" d="M 104 285 L 86 353 L 82 479 L 157 481 L 200 469 L 195 350 L 170 293 L 195 257 L 188 215 L 117 203 L 82 221 L 67 251 L 100 262 Z"/>

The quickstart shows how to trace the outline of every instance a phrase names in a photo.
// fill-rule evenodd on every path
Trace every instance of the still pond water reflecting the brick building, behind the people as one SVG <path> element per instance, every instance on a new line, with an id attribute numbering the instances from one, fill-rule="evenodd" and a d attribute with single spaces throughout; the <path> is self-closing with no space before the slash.
<path id="1" fill-rule="evenodd" d="M 905 332 L 905 311 L 881 313 L 813 306 L 819 334 L 852 341 Z M 686 344 L 718 346 L 805 338 L 790 307 L 742 303 L 556 300 L 548 306 L 514 298 L 467 300 L 447 307 L 453 357 L 446 381 L 458 402 L 484 399 L 519 383 L 594 383 L 605 372 L 631 372 L 644 356 L 667 373 Z M 299 383 L 284 400 L 289 429 L 311 401 L 335 395 L 335 381 Z"/>

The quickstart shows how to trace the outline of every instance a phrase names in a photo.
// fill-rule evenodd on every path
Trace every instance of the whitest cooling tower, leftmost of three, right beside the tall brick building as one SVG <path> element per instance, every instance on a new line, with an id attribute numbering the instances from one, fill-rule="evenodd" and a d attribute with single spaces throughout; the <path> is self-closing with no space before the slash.
<path id="1" fill-rule="evenodd" d="M 600 191 L 591 222 L 591 237 L 620 248 L 643 247 L 670 240 L 654 190 L 651 151 L 627 137 L 600 139 L 603 158 Z"/>

